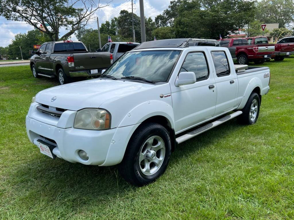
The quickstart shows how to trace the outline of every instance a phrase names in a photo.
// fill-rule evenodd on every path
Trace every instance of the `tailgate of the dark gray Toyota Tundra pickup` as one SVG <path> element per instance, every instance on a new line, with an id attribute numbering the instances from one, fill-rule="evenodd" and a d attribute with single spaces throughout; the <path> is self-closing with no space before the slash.
<path id="1" fill-rule="evenodd" d="M 110 53 L 74 53 L 76 70 L 106 69 L 110 66 Z"/>

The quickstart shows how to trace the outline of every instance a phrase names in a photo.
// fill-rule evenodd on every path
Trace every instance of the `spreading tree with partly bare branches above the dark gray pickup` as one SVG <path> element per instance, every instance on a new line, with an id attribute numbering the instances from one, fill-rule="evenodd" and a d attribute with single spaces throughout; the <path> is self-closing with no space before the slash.
<path id="1" fill-rule="evenodd" d="M 77 5 L 83 7 L 78 8 Z M 97 9 L 107 5 L 100 6 L 99 1 L 96 5 L 93 0 L 1 0 L 0 15 L 8 20 L 27 22 L 51 40 L 58 40 L 67 39 L 85 27 Z M 65 27 L 67 33 L 59 37 L 61 27 Z"/>

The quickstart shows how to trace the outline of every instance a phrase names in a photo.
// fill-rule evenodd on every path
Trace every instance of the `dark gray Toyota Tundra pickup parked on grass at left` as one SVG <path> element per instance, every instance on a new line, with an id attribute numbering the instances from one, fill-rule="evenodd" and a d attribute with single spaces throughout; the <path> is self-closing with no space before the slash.
<path id="1" fill-rule="evenodd" d="M 88 52 L 81 41 L 46 42 L 30 54 L 33 76 L 57 77 L 61 85 L 71 82 L 71 77 L 99 76 L 111 64 L 109 52 Z"/>

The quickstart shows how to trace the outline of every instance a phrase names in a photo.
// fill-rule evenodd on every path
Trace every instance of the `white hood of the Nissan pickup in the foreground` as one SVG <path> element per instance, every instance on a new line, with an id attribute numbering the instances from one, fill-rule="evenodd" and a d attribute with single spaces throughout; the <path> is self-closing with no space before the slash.
<path id="1" fill-rule="evenodd" d="M 78 111 L 83 108 L 98 108 L 104 101 L 115 101 L 120 97 L 153 87 L 156 85 L 123 80 L 90 79 L 45 89 L 36 95 L 36 102 Z M 53 100 L 53 97 L 56 99 Z"/>

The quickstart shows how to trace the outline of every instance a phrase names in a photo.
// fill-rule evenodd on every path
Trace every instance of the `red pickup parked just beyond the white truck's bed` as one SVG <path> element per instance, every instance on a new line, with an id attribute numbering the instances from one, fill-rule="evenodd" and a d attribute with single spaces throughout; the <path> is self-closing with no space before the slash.
<path id="1" fill-rule="evenodd" d="M 230 50 L 232 57 L 237 58 L 240 65 L 254 62 L 255 64 L 265 62 L 265 59 L 274 55 L 275 47 L 271 46 L 252 46 L 248 45 L 246 38 L 230 38 L 219 41 L 221 47 L 227 47 Z"/>

